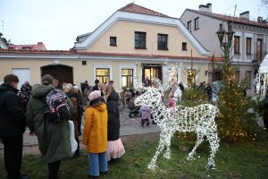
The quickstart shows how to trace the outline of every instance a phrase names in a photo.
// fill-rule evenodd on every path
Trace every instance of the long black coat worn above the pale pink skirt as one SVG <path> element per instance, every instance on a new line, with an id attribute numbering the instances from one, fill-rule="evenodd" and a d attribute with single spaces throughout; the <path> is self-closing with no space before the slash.
<path id="1" fill-rule="evenodd" d="M 108 111 L 108 141 L 116 141 L 120 137 L 120 113 L 118 108 L 118 93 L 113 90 L 107 98 Z"/>

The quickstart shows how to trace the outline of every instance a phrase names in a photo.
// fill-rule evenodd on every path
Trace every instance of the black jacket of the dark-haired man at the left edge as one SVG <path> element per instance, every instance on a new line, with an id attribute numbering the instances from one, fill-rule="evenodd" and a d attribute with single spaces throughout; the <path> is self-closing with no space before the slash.
<path id="1" fill-rule="evenodd" d="M 6 84 L 0 86 L 0 137 L 13 137 L 25 132 L 26 117 L 18 91 Z"/>

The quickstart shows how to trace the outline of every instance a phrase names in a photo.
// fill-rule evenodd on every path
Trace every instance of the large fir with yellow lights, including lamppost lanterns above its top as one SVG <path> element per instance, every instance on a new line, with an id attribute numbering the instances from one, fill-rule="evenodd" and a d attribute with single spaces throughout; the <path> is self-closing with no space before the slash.
<path id="1" fill-rule="evenodd" d="M 221 28 L 217 33 L 222 32 Z M 250 108 L 249 98 L 245 95 L 247 81 L 236 80 L 236 72 L 239 67 L 231 64 L 230 47 L 233 32 L 229 29 L 227 35 L 228 33 L 231 36 L 228 37 L 227 43 L 222 43 L 218 34 L 224 52 L 224 62 L 221 66 L 222 85 L 217 98 L 217 106 L 222 114 L 217 118 L 218 131 L 224 141 L 236 142 L 243 139 L 254 141 L 256 137 L 255 123 L 253 117 L 247 113 Z"/>

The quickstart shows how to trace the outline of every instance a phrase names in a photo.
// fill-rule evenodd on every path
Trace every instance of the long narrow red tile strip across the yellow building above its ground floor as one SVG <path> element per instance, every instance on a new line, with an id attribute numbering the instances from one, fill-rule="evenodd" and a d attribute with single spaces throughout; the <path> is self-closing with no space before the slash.
<path id="1" fill-rule="evenodd" d="M 125 57 L 146 57 L 146 58 L 169 58 L 169 59 L 188 59 L 190 56 L 180 55 L 144 55 L 144 54 L 121 54 L 121 53 L 103 53 L 103 52 L 80 52 L 76 50 L 11 50 L 0 49 L 0 55 L 96 55 L 96 56 L 125 56 Z M 209 61 L 209 57 L 193 57 L 195 60 Z M 222 57 L 215 57 L 215 61 L 222 61 Z"/>

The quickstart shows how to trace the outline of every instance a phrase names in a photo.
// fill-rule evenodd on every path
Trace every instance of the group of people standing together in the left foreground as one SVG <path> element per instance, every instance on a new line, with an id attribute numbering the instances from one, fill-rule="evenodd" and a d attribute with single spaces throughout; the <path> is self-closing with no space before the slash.
<path id="1" fill-rule="evenodd" d="M 121 158 L 125 153 L 120 138 L 119 95 L 113 88 L 113 81 L 107 84 L 95 81 L 92 88 L 85 81 L 80 88 L 64 83 L 49 74 L 41 84 L 33 87 L 26 81 L 18 89 L 19 78 L 14 74 L 4 76 L 0 86 L 0 138 L 4 144 L 4 166 L 9 179 L 28 179 L 21 174 L 23 133 L 29 127 L 29 135 L 36 135 L 42 159 L 47 163 L 48 178 L 58 178 L 61 161 L 80 157 L 79 136 L 87 147 L 90 178 L 96 178 L 108 171 L 108 161 Z M 68 120 L 51 120 L 46 115 L 47 96 L 57 91 L 66 100 L 70 112 Z M 55 113 L 56 109 L 49 109 Z M 61 111 L 57 111 L 61 113 Z M 84 116 L 84 117 L 82 117 Z M 69 120 L 74 124 L 74 139 L 78 148 L 71 151 Z M 83 131 L 81 130 L 83 124 Z"/>

